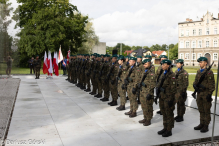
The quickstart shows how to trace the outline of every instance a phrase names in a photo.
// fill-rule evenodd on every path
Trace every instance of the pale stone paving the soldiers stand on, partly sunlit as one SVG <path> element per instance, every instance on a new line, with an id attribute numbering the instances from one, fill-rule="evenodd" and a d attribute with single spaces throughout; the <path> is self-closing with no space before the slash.
<path id="1" fill-rule="evenodd" d="M 18 77 L 21 83 L 6 146 L 149 146 L 211 136 L 212 122 L 207 133 L 193 130 L 199 124 L 199 113 L 193 108 L 187 107 L 184 122 L 175 123 L 173 136 L 163 138 L 157 134 L 163 128 L 162 116 L 156 114 L 158 105 L 152 125 L 144 127 L 138 123 L 143 118 L 141 107 L 131 119 L 124 115 L 129 103 L 126 111 L 119 112 L 66 82 L 66 77 Z M 218 122 L 217 116 L 215 129 Z"/>

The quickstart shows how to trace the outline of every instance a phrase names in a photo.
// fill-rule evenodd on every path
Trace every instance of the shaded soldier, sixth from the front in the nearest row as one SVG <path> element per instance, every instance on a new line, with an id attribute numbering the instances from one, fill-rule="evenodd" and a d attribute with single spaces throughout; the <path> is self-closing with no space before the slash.
<path id="1" fill-rule="evenodd" d="M 104 90 L 104 98 L 100 99 L 101 101 L 109 101 L 109 84 L 105 82 L 107 73 L 109 72 L 109 55 L 104 56 L 103 70 L 101 76 L 101 83 Z"/>

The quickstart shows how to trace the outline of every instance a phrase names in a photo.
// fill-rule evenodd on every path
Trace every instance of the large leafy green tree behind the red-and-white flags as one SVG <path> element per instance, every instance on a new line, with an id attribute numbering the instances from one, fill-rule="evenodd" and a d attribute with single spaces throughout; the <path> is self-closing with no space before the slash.
<path id="1" fill-rule="evenodd" d="M 75 53 L 85 42 L 85 26 L 88 17 L 83 17 L 77 7 L 68 0 L 17 0 L 19 7 L 14 12 L 16 27 L 21 28 L 18 47 L 27 56 L 45 51 L 58 51 L 62 46 Z"/>

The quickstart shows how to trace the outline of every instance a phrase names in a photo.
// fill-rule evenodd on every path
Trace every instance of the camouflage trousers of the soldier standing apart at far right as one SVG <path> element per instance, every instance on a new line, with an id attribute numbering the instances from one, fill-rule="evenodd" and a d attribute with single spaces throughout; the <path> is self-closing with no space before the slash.
<path id="1" fill-rule="evenodd" d="M 206 96 L 208 93 L 200 92 L 197 94 L 197 105 L 200 113 L 200 124 L 209 125 L 211 122 L 211 102 L 208 102 Z"/>

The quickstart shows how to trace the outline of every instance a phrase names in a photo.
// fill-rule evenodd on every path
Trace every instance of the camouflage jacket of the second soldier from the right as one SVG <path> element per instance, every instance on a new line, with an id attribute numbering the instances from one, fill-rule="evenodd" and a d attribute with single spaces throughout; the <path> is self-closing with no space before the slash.
<path id="1" fill-rule="evenodd" d="M 176 75 L 177 92 L 178 93 L 186 92 L 189 86 L 188 72 L 182 68 L 180 71 L 176 70 L 175 75 Z"/>

